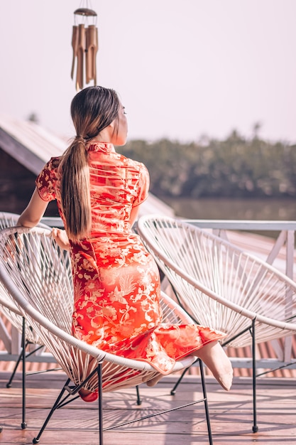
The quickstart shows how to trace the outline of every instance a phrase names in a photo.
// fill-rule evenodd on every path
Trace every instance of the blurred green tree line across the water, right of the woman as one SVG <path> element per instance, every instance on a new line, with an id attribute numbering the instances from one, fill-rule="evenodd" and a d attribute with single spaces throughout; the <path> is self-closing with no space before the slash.
<path id="1" fill-rule="evenodd" d="M 245 139 L 232 132 L 224 141 L 182 144 L 134 140 L 117 147 L 143 162 L 150 191 L 168 197 L 296 197 L 296 146 Z"/>

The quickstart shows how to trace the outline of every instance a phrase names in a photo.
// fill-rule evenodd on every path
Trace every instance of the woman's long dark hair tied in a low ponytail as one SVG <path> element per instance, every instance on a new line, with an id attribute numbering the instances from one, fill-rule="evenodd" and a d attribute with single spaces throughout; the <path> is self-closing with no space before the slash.
<path id="1" fill-rule="evenodd" d="M 111 122 L 118 122 L 118 113 L 119 98 L 114 90 L 108 88 L 87 87 L 72 100 L 71 116 L 76 136 L 60 163 L 61 205 L 71 240 L 87 237 L 92 226 L 89 163 L 85 144 Z"/>

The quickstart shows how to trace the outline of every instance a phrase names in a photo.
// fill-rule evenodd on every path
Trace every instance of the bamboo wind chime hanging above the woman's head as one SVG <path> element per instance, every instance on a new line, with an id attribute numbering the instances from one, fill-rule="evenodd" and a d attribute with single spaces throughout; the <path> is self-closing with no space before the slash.
<path id="1" fill-rule="evenodd" d="M 75 75 L 75 60 L 76 63 L 76 90 L 82 90 L 84 87 L 84 69 L 85 82 L 89 83 L 94 80 L 94 85 L 97 85 L 97 67 L 96 58 L 98 45 L 98 30 L 96 26 L 97 13 L 92 9 L 80 8 L 76 9 L 75 25 L 72 30 L 72 70 L 71 78 Z M 82 23 L 76 23 L 77 17 Z M 88 22 L 92 21 L 92 24 Z M 85 57 L 84 57 L 85 55 Z"/>

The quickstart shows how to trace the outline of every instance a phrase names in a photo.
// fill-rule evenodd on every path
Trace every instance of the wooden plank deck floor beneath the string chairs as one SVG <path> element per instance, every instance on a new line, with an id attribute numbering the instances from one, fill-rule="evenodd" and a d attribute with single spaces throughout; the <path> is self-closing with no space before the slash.
<path id="1" fill-rule="evenodd" d="M 13 387 L 5 387 L 7 372 L 0 373 L 0 444 L 31 444 L 65 377 L 61 372 L 27 377 L 28 428 L 21 424 L 21 376 Z M 175 396 L 170 395 L 175 378 L 165 377 L 153 388 L 141 386 L 143 404 L 136 404 L 136 392 L 123 390 L 104 395 L 104 427 L 138 414 L 149 414 L 202 397 L 198 376 L 187 376 Z M 251 380 L 236 377 L 230 392 L 207 377 L 207 392 L 214 445 L 262 445 L 296 443 L 296 380 L 258 380 L 258 427 L 252 431 Z M 97 404 L 77 400 L 55 412 L 41 436 L 44 445 L 97 445 Z M 208 444 L 203 404 L 192 405 L 158 417 L 104 432 L 104 445 L 189 445 Z"/>

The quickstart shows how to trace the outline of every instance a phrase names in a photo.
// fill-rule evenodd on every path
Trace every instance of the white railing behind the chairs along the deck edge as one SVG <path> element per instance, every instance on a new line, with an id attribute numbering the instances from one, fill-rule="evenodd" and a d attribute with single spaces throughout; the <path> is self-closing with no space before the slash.
<path id="1" fill-rule="evenodd" d="M 223 237 L 231 242 L 239 244 L 238 232 L 243 233 L 245 250 L 258 254 L 259 257 L 265 259 L 274 267 L 278 267 L 281 272 L 285 272 L 288 277 L 295 279 L 294 263 L 296 259 L 295 254 L 295 231 L 296 221 L 251 221 L 251 220 L 186 220 L 189 223 L 202 227 L 204 229 L 212 230 L 216 235 Z M 59 218 L 45 218 L 45 224 L 55 227 L 61 227 L 62 223 Z M 246 239 L 251 240 L 253 233 L 249 233 L 249 238 L 246 238 L 248 232 L 261 232 L 268 236 L 270 231 L 278 232 L 275 238 L 268 237 L 268 243 L 264 246 L 264 250 L 258 249 L 258 243 L 252 247 L 248 244 Z M 236 235 L 234 240 L 234 234 Z M 268 246 L 268 247 L 266 247 Z M 266 250 L 268 249 L 268 250 Z M 20 352 L 21 342 L 19 333 L 15 328 L 11 328 L 11 332 L 6 330 L 3 319 L 0 318 L 0 339 L 3 343 L 2 351 L 0 351 L 0 360 L 16 360 L 16 356 Z M 258 359 L 258 368 L 275 368 L 280 365 L 285 365 L 293 361 L 292 357 L 292 338 L 284 339 L 284 347 L 279 341 L 272 341 L 273 350 L 276 359 Z M 38 362 L 54 362 L 52 356 L 48 353 L 38 353 L 32 355 L 29 361 Z M 251 368 L 251 358 L 235 358 L 232 360 L 234 367 L 237 368 Z M 296 368 L 296 363 L 290 368 Z"/>

